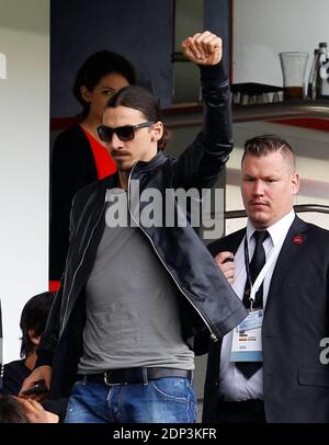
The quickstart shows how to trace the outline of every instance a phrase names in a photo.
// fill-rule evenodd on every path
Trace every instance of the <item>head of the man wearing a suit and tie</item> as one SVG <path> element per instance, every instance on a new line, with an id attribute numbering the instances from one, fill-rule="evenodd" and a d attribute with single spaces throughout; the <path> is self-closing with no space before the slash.
<path id="1" fill-rule="evenodd" d="M 241 194 L 256 229 L 265 229 L 287 215 L 299 190 L 293 148 L 274 135 L 246 140 L 241 160 Z"/>

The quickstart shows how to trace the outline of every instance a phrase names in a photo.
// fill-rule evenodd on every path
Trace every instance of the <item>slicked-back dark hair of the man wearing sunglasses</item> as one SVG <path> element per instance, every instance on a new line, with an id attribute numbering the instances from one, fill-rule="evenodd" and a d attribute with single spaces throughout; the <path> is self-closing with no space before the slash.
<path id="1" fill-rule="evenodd" d="M 140 111 L 146 121 L 162 122 L 159 101 L 145 88 L 137 85 L 125 87 L 109 99 L 106 109 L 127 106 Z M 158 149 L 163 150 L 171 138 L 171 133 L 163 128 L 163 135 L 158 140 Z"/>

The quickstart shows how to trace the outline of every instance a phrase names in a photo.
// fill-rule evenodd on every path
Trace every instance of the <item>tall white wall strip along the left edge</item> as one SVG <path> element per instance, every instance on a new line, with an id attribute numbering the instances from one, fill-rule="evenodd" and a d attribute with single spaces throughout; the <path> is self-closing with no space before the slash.
<path id="1" fill-rule="evenodd" d="M 0 274 L 4 362 L 24 303 L 47 290 L 49 0 L 0 0 Z"/>

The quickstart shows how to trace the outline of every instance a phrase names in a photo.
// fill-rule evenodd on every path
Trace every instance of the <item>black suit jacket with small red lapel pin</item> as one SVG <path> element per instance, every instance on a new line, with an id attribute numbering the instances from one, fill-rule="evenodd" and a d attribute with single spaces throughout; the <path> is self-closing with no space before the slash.
<path id="1" fill-rule="evenodd" d="M 209 246 L 236 252 L 246 229 Z M 329 231 L 295 218 L 272 275 L 262 328 L 266 422 L 329 422 Z M 209 346 L 204 422 L 216 422 L 220 342 Z"/>

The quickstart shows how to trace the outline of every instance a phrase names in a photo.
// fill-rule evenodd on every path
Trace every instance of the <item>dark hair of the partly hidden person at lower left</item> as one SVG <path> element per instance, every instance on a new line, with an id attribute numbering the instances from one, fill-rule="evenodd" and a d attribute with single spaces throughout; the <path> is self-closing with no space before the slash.
<path id="1" fill-rule="evenodd" d="M 44 332 L 53 300 L 54 294 L 44 292 L 32 297 L 23 307 L 20 321 L 23 334 L 21 339 L 21 357 L 27 357 L 35 347 L 30 339 L 29 330 L 34 330 L 36 335 Z"/>

